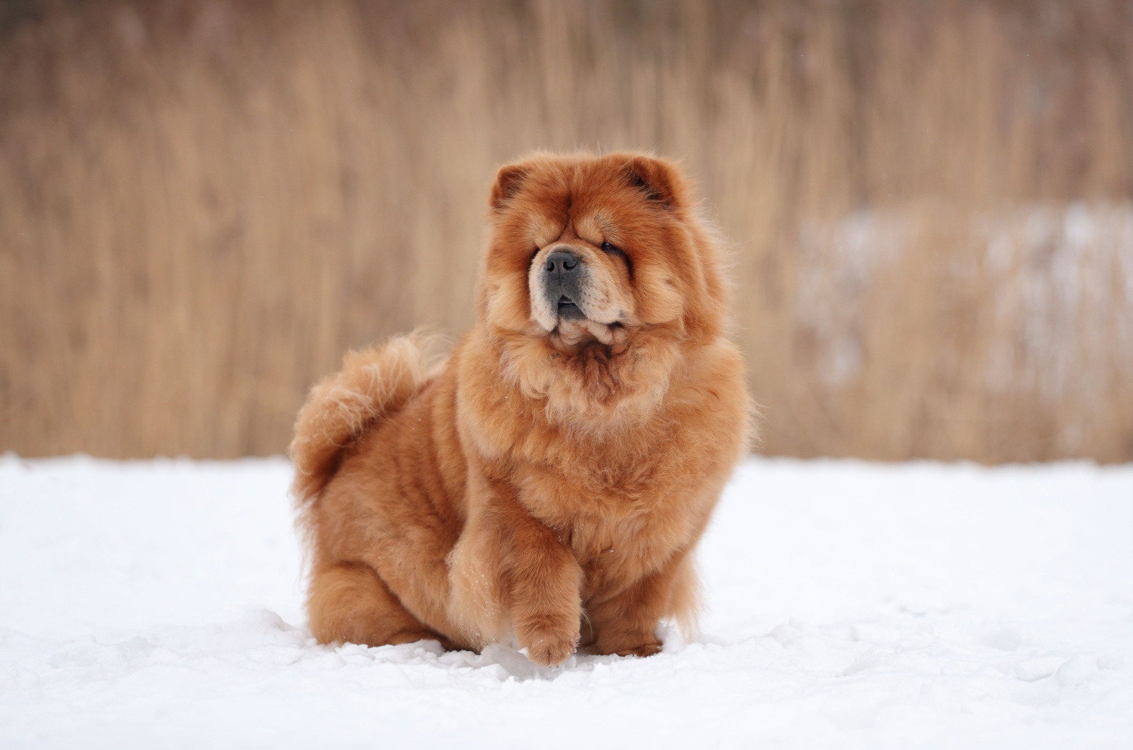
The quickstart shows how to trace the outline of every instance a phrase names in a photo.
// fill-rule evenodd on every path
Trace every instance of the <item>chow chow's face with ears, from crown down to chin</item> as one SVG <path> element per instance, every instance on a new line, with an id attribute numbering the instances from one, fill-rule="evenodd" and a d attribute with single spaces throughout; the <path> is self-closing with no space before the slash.
<path id="1" fill-rule="evenodd" d="M 687 188 L 638 154 L 535 156 L 492 190 L 480 312 L 571 351 L 718 317 L 719 280 Z"/>

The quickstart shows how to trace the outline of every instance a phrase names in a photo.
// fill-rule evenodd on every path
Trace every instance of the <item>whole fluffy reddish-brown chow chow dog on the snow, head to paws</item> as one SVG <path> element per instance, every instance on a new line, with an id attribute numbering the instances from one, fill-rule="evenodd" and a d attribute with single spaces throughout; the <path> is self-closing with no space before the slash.
<path id="1" fill-rule="evenodd" d="M 349 353 L 299 412 L 315 637 L 511 637 L 555 665 L 690 628 L 692 549 L 750 429 L 725 297 L 672 163 L 501 169 L 472 330 L 435 366 L 420 336 Z"/>

